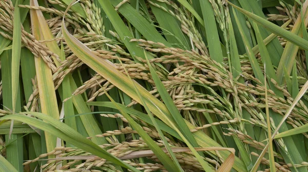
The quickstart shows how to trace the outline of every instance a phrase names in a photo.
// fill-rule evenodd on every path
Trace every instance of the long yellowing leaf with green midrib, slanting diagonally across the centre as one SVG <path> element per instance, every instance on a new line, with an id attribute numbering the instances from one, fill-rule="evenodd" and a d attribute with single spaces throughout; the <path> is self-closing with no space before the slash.
<path id="1" fill-rule="evenodd" d="M 141 103 L 141 100 L 134 91 L 133 85 L 131 85 L 131 81 L 127 76 L 125 76 L 122 72 L 118 71 L 110 61 L 94 55 L 91 52 L 91 50 L 85 47 L 80 41 L 76 40 L 76 38 L 74 38 L 71 34 L 69 34 L 64 23 L 62 25 L 62 33 L 68 47 L 78 58 L 80 58 L 83 62 L 85 62 L 95 72 L 99 73 L 105 79 L 114 84 L 115 87 L 119 88 L 128 96 L 130 96 L 137 102 Z M 163 122 L 165 122 L 169 126 L 171 125 L 170 121 L 175 122 L 174 119 L 172 119 L 172 116 L 168 111 L 167 107 L 161 101 L 159 101 L 157 98 L 151 95 L 140 84 L 136 83 L 136 85 L 138 91 L 144 97 L 145 102 L 147 103 L 150 111 L 153 112 L 153 114 L 155 114 L 158 118 L 160 118 Z M 153 105 L 152 102 L 159 107 L 160 111 L 164 112 L 164 115 L 161 115 L 161 112 L 157 109 L 156 106 Z M 185 121 L 185 123 L 190 129 L 195 127 L 188 121 Z M 206 136 L 201 131 L 195 132 L 193 135 L 201 147 L 220 146 L 217 142 L 215 142 L 210 137 Z M 213 153 L 211 153 L 210 155 L 216 157 Z M 226 159 L 229 156 L 229 152 L 224 150 L 220 152 L 220 155 L 222 156 L 222 158 Z M 243 162 L 237 157 L 235 157 L 234 168 L 246 171 Z"/>

